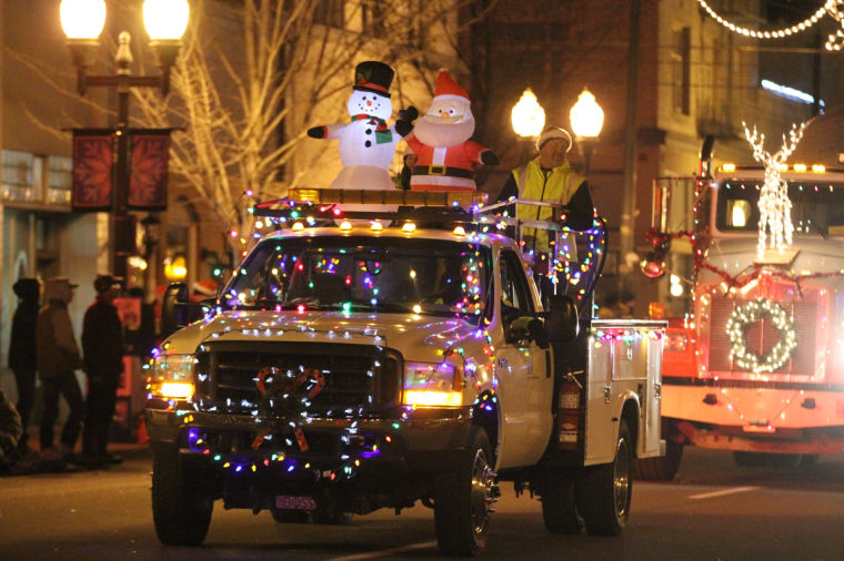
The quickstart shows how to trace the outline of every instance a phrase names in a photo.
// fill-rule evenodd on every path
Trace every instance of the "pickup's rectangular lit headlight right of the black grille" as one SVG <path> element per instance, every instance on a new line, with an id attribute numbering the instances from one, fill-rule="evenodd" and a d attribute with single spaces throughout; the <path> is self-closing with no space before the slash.
<path id="1" fill-rule="evenodd" d="M 404 405 L 416 407 L 461 407 L 463 377 L 459 366 L 449 363 L 405 363 Z"/>

